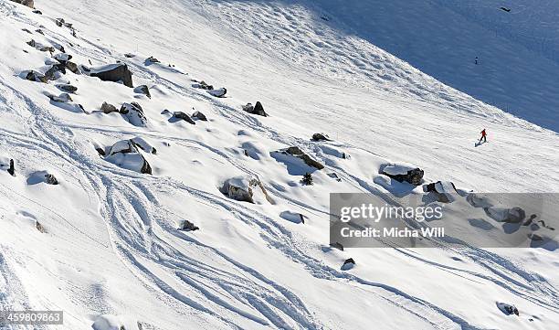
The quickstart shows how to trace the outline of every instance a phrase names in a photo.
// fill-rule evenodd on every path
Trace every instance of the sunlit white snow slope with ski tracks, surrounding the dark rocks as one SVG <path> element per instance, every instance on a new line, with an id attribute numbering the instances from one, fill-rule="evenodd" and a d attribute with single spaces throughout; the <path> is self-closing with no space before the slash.
<path id="1" fill-rule="evenodd" d="M 248 5 L 258 3 L 53 1 L 37 3 L 45 14 L 37 16 L 0 2 L 6 46 L 0 50 L 1 155 L 16 158 L 17 170 L 16 177 L 0 173 L 3 307 L 61 309 L 64 327 L 72 329 L 90 328 L 100 314 L 128 314 L 143 328 L 164 329 L 366 329 L 371 318 L 381 329 L 556 327 L 556 250 L 325 248 L 328 194 L 392 199 L 375 183 L 387 159 L 416 163 L 428 179 L 465 188 L 553 191 L 556 134 L 445 87 L 364 40 L 347 44 L 336 29 L 315 40 L 310 28 L 317 23 L 302 6 Z M 301 44 L 326 40 L 332 49 L 368 50 L 392 79 L 383 90 L 355 81 L 360 71 L 326 75 L 325 69 L 348 68 L 338 62 L 343 57 L 288 48 L 287 32 L 276 34 L 282 25 L 274 21 L 257 32 L 280 38 L 286 55 L 260 50 L 247 34 L 231 32 L 236 27 L 229 21 L 216 19 L 227 14 L 223 6 L 236 23 L 243 11 L 291 16 Z M 55 25 L 59 16 L 75 24 L 77 38 Z M 40 25 L 44 37 L 34 32 Z M 51 60 L 25 44 L 31 37 L 63 44 L 80 64 L 126 61 L 134 85 L 148 84 L 152 99 L 69 73 L 58 82 L 78 87 L 72 98 L 87 113 L 48 101 L 45 91 L 59 92 L 53 82 L 20 77 L 27 69 L 46 69 Z M 126 59 L 128 52 L 137 56 Z M 146 66 L 151 55 L 176 67 Z M 312 61 L 313 55 L 323 58 Z M 382 76 L 371 73 L 371 79 Z M 196 90 L 192 78 L 225 86 L 230 97 Z M 255 99 L 271 117 L 240 111 Z M 138 101 L 147 127 L 96 112 L 102 101 Z M 192 107 L 209 122 L 170 122 L 161 114 Z M 490 144 L 475 148 L 482 126 Z M 311 143 L 318 131 L 335 141 Z M 95 151 L 95 145 L 136 135 L 157 149 L 144 155 L 153 176 L 112 165 Z M 291 165 L 269 154 L 290 145 L 327 166 L 313 174 L 314 186 L 301 186 Z M 521 163 L 526 150 L 532 157 Z M 342 152 L 352 158 L 342 159 Z M 55 173 L 60 185 L 29 181 L 43 170 Z M 219 192 L 224 180 L 243 174 L 258 176 L 273 202 L 241 203 Z M 305 224 L 282 218 L 285 211 L 301 212 Z M 201 229 L 176 230 L 183 219 Z M 46 234 L 37 231 L 36 220 Z M 357 267 L 341 271 L 349 257 Z M 515 303 L 522 317 L 503 315 L 496 301 Z"/>

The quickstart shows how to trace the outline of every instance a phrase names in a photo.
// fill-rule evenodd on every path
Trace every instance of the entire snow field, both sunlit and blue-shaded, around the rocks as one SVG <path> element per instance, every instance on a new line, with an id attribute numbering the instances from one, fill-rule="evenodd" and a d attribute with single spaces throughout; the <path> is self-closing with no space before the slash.
<path id="1" fill-rule="evenodd" d="M 64 311 L 64 325 L 3 329 L 559 328 L 554 239 L 533 249 L 328 247 L 330 193 L 395 204 L 424 194 L 379 175 L 389 162 L 462 192 L 558 192 L 559 3 L 35 6 L 42 15 L 0 0 L 0 311 Z M 69 69 L 26 80 L 57 62 L 59 46 L 90 68 L 126 63 L 151 98 Z M 78 88 L 72 101 L 49 100 L 59 84 Z M 104 101 L 137 102 L 146 120 L 105 114 Z M 269 117 L 242 111 L 256 101 Z M 195 111 L 207 121 L 173 116 Z M 489 143 L 476 146 L 483 128 Z M 332 141 L 312 142 L 320 132 Z M 290 146 L 325 168 L 274 153 Z M 140 173 L 146 162 L 151 175 Z M 301 185 L 305 172 L 314 185 Z M 254 203 L 224 195 L 226 181 L 252 187 Z M 200 229 L 177 230 L 185 220 Z M 348 258 L 356 264 L 343 271 Z"/>

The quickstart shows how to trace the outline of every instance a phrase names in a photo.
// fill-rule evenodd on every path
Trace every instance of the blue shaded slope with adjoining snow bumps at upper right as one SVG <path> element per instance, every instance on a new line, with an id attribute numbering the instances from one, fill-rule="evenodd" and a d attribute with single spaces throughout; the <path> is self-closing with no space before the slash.
<path id="1" fill-rule="evenodd" d="M 302 50 L 316 59 L 297 60 L 332 70 L 332 77 L 349 73 L 350 79 L 369 88 L 383 88 L 386 83 L 391 84 L 390 80 L 398 80 L 402 85 L 411 82 L 415 84 L 412 91 L 420 98 L 429 97 L 430 93 L 422 88 L 426 82 L 421 81 L 421 87 L 417 88 L 417 81 L 406 81 L 406 74 L 396 73 L 394 77 L 391 72 L 394 68 L 386 66 L 385 59 L 379 60 L 376 54 L 367 51 L 371 43 L 478 100 L 555 132 L 559 127 L 555 98 L 559 88 L 555 79 L 559 72 L 555 60 L 559 34 L 551 25 L 556 22 L 554 1 L 509 1 L 506 6 L 512 8 L 510 13 L 502 11 L 503 4 L 498 1 L 217 3 L 216 15 L 230 19 L 238 36 L 255 36 L 258 42 L 279 52 L 290 51 L 290 47 L 284 47 L 286 45 L 300 44 L 296 51 Z M 282 6 L 278 4 L 286 4 L 292 12 L 278 9 Z M 253 8 L 250 15 L 245 16 L 245 5 Z M 263 15 L 253 14 L 259 12 Z M 281 35 L 285 33 L 289 36 L 309 33 L 305 29 L 290 28 L 289 17 L 293 13 L 322 21 L 319 27 L 325 28 L 311 31 L 314 36 L 309 44 L 301 44 L 306 38 L 291 40 L 286 36 L 286 40 L 282 40 Z M 263 34 L 258 29 L 262 25 L 267 27 L 264 31 L 274 31 L 273 34 Z M 347 47 L 338 48 L 338 45 L 329 47 L 332 43 L 322 36 L 328 27 L 342 30 L 348 44 L 359 51 L 345 50 Z M 362 41 L 367 43 L 364 45 Z M 329 55 L 328 64 L 321 63 Z M 334 57 L 334 62 L 342 61 L 343 69 L 334 69 L 336 67 L 331 65 Z M 476 57 L 480 65 L 475 65 Z M 395 90 L 391 88 L 390 91 Z"/>

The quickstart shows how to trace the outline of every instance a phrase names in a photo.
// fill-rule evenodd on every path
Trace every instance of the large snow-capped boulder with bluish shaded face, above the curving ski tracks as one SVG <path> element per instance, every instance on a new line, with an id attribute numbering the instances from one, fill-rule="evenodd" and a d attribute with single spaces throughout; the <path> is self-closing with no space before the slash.
<path id="1" fill-rule="evenodd" d="M 135 137 L 130 140 L 121 140 L 112 144 L 105 160 L 114 165 L 142 174 L 152 174 L 152 166 L 144 154 L 156 154 L 155 148 L 144 139 Z"/>

